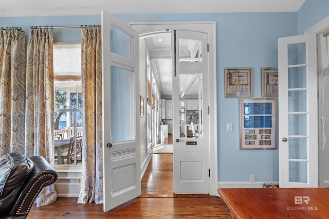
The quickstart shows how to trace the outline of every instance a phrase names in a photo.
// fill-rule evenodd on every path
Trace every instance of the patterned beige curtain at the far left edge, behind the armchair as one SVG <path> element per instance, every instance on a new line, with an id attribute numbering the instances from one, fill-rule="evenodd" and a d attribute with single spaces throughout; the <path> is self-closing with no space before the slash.
<path id="1" fill-rule="evenodd" d="M 0 157 L 24 154 L 25 33 L 0 30 Z"/>

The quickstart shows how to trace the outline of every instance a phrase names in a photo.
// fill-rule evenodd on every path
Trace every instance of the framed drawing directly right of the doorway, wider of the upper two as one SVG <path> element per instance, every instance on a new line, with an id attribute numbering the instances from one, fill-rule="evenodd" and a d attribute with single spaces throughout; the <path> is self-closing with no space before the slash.
<path id="1" fill-rule="evenodd" d="M 252 68 L 225 68 L 225 97 L 252 97 Z"/>

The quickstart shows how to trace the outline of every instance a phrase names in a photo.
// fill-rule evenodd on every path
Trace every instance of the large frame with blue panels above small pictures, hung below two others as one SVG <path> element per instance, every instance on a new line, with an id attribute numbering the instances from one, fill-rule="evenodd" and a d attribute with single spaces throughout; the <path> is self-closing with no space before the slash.
<path id="1" fill-rule="evenodd" d="M 240 99 L 240 149 L 276 149 L 275 98 Z"/>

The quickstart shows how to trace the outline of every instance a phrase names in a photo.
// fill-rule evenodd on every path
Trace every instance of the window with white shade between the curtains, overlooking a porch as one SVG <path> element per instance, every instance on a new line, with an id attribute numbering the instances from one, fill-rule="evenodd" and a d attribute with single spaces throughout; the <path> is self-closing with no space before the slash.
<path id="1" fill-rule="evenodd" d="M 81 44 L 54 43 L 54 164 L 82 164 Z M 78 97 L 78 98 L 77 98 Z"/>

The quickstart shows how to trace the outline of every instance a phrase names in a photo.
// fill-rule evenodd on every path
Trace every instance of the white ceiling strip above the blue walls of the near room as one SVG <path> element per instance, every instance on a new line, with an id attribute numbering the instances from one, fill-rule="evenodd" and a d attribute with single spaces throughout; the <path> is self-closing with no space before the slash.
<path id="1" fill-rule="evenodd" d="M 154 13 L 296 12 L 305 0 L 0 0 L 0 17 Z"/>

